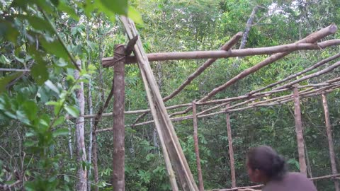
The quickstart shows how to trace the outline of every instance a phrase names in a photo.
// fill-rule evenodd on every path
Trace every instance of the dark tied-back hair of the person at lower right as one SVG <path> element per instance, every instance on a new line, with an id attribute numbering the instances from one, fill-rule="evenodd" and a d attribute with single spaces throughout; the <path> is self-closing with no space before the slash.
<path id="1" fill-rule="evenodd" d="M 270 146 L 251 148 L 247 154 L 251 170 L 261 170 L 270 180 L 278 180 L 287 172 L 285 159 L 278 155 Z"/>

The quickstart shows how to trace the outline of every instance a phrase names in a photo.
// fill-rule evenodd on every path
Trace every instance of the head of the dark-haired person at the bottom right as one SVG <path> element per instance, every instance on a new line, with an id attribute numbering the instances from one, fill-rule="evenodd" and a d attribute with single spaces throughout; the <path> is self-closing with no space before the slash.
<path id="1" fill-rule="evenodd" d="M 254 183 L 280 179 L 287 172 L 285 160 L 270 146 L 251 148 L 246 155 L 249 178 Z"/>

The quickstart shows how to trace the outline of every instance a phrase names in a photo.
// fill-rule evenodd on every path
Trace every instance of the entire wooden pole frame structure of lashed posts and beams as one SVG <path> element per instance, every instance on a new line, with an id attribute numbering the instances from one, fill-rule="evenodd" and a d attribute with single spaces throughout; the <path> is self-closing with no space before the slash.
<path id="1" fill-rule="evenodd" d="M 85 119 L 89 118 L 96 118 L 95 123 L 95 131 L 94 131 L 94 140 L 96 139 L 96 134 L 99 132 L 106 132 L 113 130 L 115 132 L 115 139 L 117 143 L 115 145 L 114 140 L 114 152 L 113 158 L 118 163 L 114 165 L 118 165 L 117 171 L 122 173 L 122 166 L 124 167 L 124 154 L 122 155 L 122 151 L 124 151 L 124 144 L 122 140 L 124 140 L 124 115 L 131 115 L 131 114 L 141 114 L 140 117 L 137 117 L 137 120 L 132 125 L 127 125 L 131 127 L 137 127 L 140 125 L 147 125 L 154 123 L 157 132 L 159 134 L 159 139 L 162 145 L 162 150 L 164 154 L 164 160 L 166 161 L 166 169 L 169 173 L 169 179 L 171 183 L 172 190 L 179 190 L 181 187 L 182 190 L 204 190 L 203 188 L 203 178 L 200 170 L 200 157 L 198 153 L 198 136 L 197 136 L 197 120 L 198 118 L 202 117 L 209 117 L 212 115 L 218 115 L 225 113 L 226 114 L 226 122 L 227 122 L 227 133 L 229 139 L 229 156 L 230 156 L 230 166 L 234 166 L 234 158 L 233 158 L 233 150 L 232 150 L 232 127 L 229 122 L 229 113 L 236 112 L 239 110 L 246 110 L 249 108 L 256 108 L 256 107 L 266 107 L 272 105 L 280 105 L 284 103 L 288 103 L 290 101 L 294 101 L 295 106 L 295 130 L 297 134 L 297 144 L 298 144 L 298 151 L 299 151 L 299 162 L 301 166 L 301 172 L 306 173 L 306 165 L 305 165 L 305 146 L 303 144 L 303 128 L 300 119 L 300 99 L 307 98 L 310 96 L 322 96 L 322 100 L 324 103 L 324 112 L 326 118 L 326 128 L 327 128 L 327 136 L 329 139 L 329 154 L 331 158 L 331 175 L 326 175 L 319 178 L 311 178 L 312 180 L 319 180 L 323 178 L 334 178 L 340 176 L 337 173 L 336 166 L 335 166 L 335 155 L 334 155 L 334 146 L 333 141 L 331 138 L 331 126 L 329 122 L 329 112 L 327 108 L 327 99 L 326 94 L 340 88 L 340 77 L 335 79 L 329 79 L 324 81 L 324 83 L 317 83 L 317 84 L 308 84 L 305 86 L 299 86 L 298 83 L 301 81 L 305 81 L 307 79 L 314 78 L 316 76 L 320 76 L 322 74 L 326 74 L 329 71 L 336 69 L 336 67 L 340 66 L 340 62 L 335 62 L 326 68 L 314 72 L 312 74 L 303 76 L 300 79 L 290 81 L 295 79 L 296 76 L 300 76 L 302 74 L 307 73 L 308 71 L 312 71 L 319 66 L 322 66 L 326 63 L 333 61 L 340 57 L 339 54 L 335 54 L 332 57 L 327 59 L 323 59 L 322 61 L 310 66 L 309 68 L 298 72 L 297 74 L 293 74 L 288 76 L 287 78 L 283 79 L 282 81 L 277 81 L 276 83 L 272 83 L 268 86 L 263 88 L 259 88 L 258 90 L 251 91 L 246 93 L 243 96 L 238 96 L 234 98 L 225 98 L 220 100 L 210 100 L 213 96 L 215 96 L 220 91 L 225 90 L 225 88 L 231 86 L 232 84 L 236 83 L 237 81 L 244 79 L 246 76 L 253 74 L 254 72 L 258 71 L 259 69 L 263 68 L 263 66 L 267 66 L 268 64 L 272 64 L 276 62 L 278 59 L 285 57 L 286 55 L 290 54 L 295 50 L 322 50 L 324 48 L 340 45 L 340 40 L 326 40 L 324 42 L 318 42 L 323 37 L 336 33 L 336 25 L 329 25 L 327 28 L 323 28 L 316 33 L 312 33 L 311 35 L 305 37 L 302 40 L 299 40 L 293 44 L 289 45 L 280 45 L 275 47 L 261 47 L 261 48 L 249 48 L 249 49 L 242 49 L 242 50 L 231 50 L 232 46 L 235 45 L 238 40 L 242 37 L 242 33 L 237 33 L 232 37 L 224 46 L 220 48 L 218 51 L 198 51 L 198 52 L 169 52 L 169 53 L 154 53 L 154 54 L 145 54 L 142 43 L 140 39 L 137 39 L 137 30 L 135 25 L 130 19 L 121 17 L 121 21 L 125 26 L 125 30 L 128 34 L 128 38 L 130 40 L 129 44 L 125 49 L 120 50 L 120 53 L 115 52 L 115 57 L 110 58 L 103 58 L 103 66 L 114 66 L 115 67 L 115 90 L 111 91 L 111 94 L 108 96 L 108 100 L 106 100 L 106 106 L 104 106 L 97 115 L 84 115 Z M 122 47 L 122 46 L 120 46 Z M 132 48 L 133 47 L 133 48 Z M 125 51 L 124 51 L 125 50 Z M 135 57 L 131 57 L 130 53 L 134 52 Z M 122 53 L 123 52 L 123 53 Z M 178 95 L 183 88 L 185 88 L 193 79 L 195 79 L 198 75 L 202 74 L 205 69 L 208 68 L 213 62 L 216 61 L 217 58 L 226 58 L 226 57 L 245 57 L 257 54 L 271 54 L 270 57 L 267 57 L 259 64 L 252 66 L 249 69 L 242 71 L 234 78 L 227 81 L 225 84 L 214 88 L 207 96 L 200 98 L 200 100 L 196 100 L 193 103 L 183 103 L 180 105 L 172 105 L 169 107 L 165 107 L 164 102 L 166 100 L 170 100 L 174 98 L 174 96 Z M 118 55 L 118 56 L 117 56 Z M 188 76 L 188 79 L 184 81 L 179 88 L 177 88 L 173 93 L 165 98 L 162 98 L 159 93 L 159 89 L 157 87 L 157 83 L 154 81 L 154 76 L 152 74 L 151 67 L 149 66 L 149 61 L 159 61 L 159 60 L 169 60 L 169 59 L 208 59 L 204 64 L 202 64 L 193 74 Z M 124 109 L 124 76 L 122 77 L 121 72 L 123 70 L 123 64 L 132 64 L 138 62 L 140 66 L 140 71 L 142 74 L 142 79 L 145 84 L 145 90 L 147 91 L 147 98 L 149 100 L 150 109 L 145 110 L 134 110 L 134 111 L 125 111 Z M 117 74 L 116 74 L 117 73 Z M 123 72 L 124 73 L 124 72 Z M 117 78 L 120 78 L 120 82 L 116 81 Z M 285 83 L 290 81 L 288 83 Z M 277 86 L 280 83 L 285 83 L 284 85 Z M 275 87 L 275 88 L 273 88 Z M 265 91 L 268 88 L 272 88 L 269 91 Z M 293 93 L 285 95 L 285 96 L 275 96 L 276 93 L 283 93 L 287 91 L 292 91 Z M 110 101 L 111 97 L 115 96 L 115 103 L 113 112 L 110 113 L 103 113 L 103 109 L 107 107 L 108 102 Z M 269 98 L 268 98 L 269 97 Z M 264 99 L 266 98 L 266 99 Z M 196 105 L 212 105 L 210 108 L 202 110 L 200 112 L 196 111 Z M 186 107 L 185 110 L 181 112 L 172 112 L 168 115 L 168 111 Z M 176 115 L 184 115 L 189 111 L 193 111 L 193 115 L 186 115 L 181 117 L 172 117 Z M 217 111 L 214 111 L 217 110 Z M 154 120 L 150 120 L 147 122 L 139 122 L 143 116 L 146 115 L 147 112 L 151 112 Z M 109 117 L 115 116 L 115 123 L 113 128 L 108 129 L 96 129 L 96 125 L 101 120 L 101 117 Z M 118 119 L 118 118 L 119 119 Z M 171 117 L 171 118 L 170 118 Z M 176 132 L 174 131 L 174 127 L 171 124 L 171 121 L 181 121 L 181 120 L 191 120 L 193 119 L 194 130 L 193 136 L 195 138 L 195 151 L 196 151 L 196 158 L 198 164 L 198 180 L 199 180 L 199 187 L 196 185 L 195 180 L 193 179 L 193 175 L 191 174 L 190 169 L 188 168 L 188 164 L 186 162 L 186 158 L 183 155 L 183 151 L 181 151 L 181 146 L 179 141 L 176 137 Z M 123 137 L 122 137 L 123 136 Z M 122 148 L 123 146 L 123 148 Z M 95 148 L 94 144 L 94 148 Z M 116 152 L 117 151 L 117 152 Z M 120 152 L 118 152 L 120 151 Z M 96 152 L 96 151 L 94 151 Z M 94 157 L 96 158 L 96 157 Z M 123 161 L 122 161 L 123 160 Z M 173 170 L 174 167 L 174 170 Z M 124 168 L 123 168 L 124 169 Z M 98 173 L 98 172 L 97 172 Z M 122 181 L 124 181 L 124 175 L 120 175 L 120 173 L 115 174 L 114 172 L 114 179 L 113 181 L 117 181 L 113 183 L 115 190 L 124 190 L 124 184 L 122 185 Z M 177 176 L 177 180 L 179 185 L 176 182 L 175 174 Z M 249 187 L 237 187 L 236 179 L 235 179 L 235 172 L 234 168 L 231 168 L 232 174 L 232 188 L 231 189 L 218 189 L 218 190 L 238 190 L 240 188 L 249 188 Z M 117 177 L 115 177 L 117 176 Z M 119 182 L 119 183 L 118 183 Z M 124 182 L 123 182 L 124 183 Z M 336 190 L 339 190 L 339 183 L 337 180 L 334 180 Z M 256 185 L 252 187 L 261 187 L 261 185 Z"/>

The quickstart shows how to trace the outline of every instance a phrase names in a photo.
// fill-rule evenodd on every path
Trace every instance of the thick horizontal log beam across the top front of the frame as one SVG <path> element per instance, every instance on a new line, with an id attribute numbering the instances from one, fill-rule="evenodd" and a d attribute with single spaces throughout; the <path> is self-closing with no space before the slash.
<path id="1" fill-rule="evenodd" d="M 335 26 L 335 25 L 334 25 Z M 327 33 L 332 31 L 327 29 Z M 335 33 L 336 29 L 334 30 Z M 331 33 L 332 34 L 332 33 Z M 329 34 L 328 34 L 329 35 Z M 312 40 L 312 37 L 310 39 Z M 315 42 L 315 41 L 314 41 Z M 178 59 L 219 59 L 229 57 L 246 57 L 261 54 L 279 54 L 280 52 L 293 52 L 296 50 L 320 50 L 329 46 L 339 45 L 340 40 L 326 40 L 314 44 L 314 42 L 297 42 L 296 44 L 278 45 L 273 47 L 258 47 L 258 48 L 245 48 L 240 50 L 210 50 L 210 51 L 191 51 L 191 52 L 159 52 L 147 54 L 147 59 L 150 62 L 153 61 L 165 61 L 165 60 L 178 60 Z M 289 54 L 288 53 L 288 54 Z M 104 64 L 110 62 L 113 57 L 103 59 Z M 126 63 L 135 63 L 135 57 L 127 57 Z M 106 66 L 106 65 L 105 65 Z"/>

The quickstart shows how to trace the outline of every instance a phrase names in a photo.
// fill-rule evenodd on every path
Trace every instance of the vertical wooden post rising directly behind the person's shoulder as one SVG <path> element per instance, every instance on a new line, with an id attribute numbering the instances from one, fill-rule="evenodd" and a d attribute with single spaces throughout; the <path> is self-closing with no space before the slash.
<path id="1" fill-rule="evenodd" d="M 293 86 L 293 96 L 294 96 L 295 132 L 297 137 L 297 151 L 299 153 L 300 172 L 307 175 L 307 165 L 305 159 L 305 140 L 303 139 L 300 109 L 300 95 L 297 89 L 297 85 Z"/>

